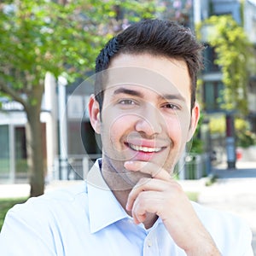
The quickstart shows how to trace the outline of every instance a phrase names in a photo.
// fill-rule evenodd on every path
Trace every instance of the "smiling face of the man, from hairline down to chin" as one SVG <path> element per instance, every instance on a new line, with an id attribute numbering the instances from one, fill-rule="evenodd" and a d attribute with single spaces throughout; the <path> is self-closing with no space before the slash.
<path id="1" fill-rule="evenodd" d="M 190 78 L 184 61 L 154 55 L 118 55 L 108 68 L 100 119 L 102 163 L 135 184 L 127 160 L 151 161 L 172 172 L 192 137 L 199 108 L 190 112 Z"/>

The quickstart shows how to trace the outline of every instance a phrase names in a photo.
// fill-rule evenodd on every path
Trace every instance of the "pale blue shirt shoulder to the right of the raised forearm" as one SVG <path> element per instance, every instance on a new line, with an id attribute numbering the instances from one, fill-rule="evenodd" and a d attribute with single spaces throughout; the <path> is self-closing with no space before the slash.
<path id="1" fill-rule="evenodd" d="M 243 219 L 195 202 L 192 205 L 224 255 L 231 255 L 230 251 L 234 252 L 232 255 L 247 255 L 245 253 L 251 248 L 252 232 Z"/>

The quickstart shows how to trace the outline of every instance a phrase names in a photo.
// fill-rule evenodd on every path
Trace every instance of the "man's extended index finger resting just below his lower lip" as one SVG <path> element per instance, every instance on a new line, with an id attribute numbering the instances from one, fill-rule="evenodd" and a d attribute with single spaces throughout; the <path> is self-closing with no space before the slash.
<path id="1" fill-rule="evenodd" d="M 170 172 L 167 172 L 164 168 L 157 166 L 152 162 L 129 160 L 125 161 L 124 166 L 125 169 L 132 172 L 143 172 L 154 178 L 172 180 Z"/>

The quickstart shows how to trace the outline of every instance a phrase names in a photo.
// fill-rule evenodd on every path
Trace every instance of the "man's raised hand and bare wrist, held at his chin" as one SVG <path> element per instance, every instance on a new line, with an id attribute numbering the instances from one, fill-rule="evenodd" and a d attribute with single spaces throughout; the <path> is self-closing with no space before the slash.
<path id="1" fill-rule="evenodd" d="M 141 178 L 127 200 L 126 210 L 136 224 L 144 222 L 148 212 L 154 213 L 187 255 L 220 255 L 182 187 L 165 169 L 143 161 L 127 161 L 125 168 L 151 176 Z"/>

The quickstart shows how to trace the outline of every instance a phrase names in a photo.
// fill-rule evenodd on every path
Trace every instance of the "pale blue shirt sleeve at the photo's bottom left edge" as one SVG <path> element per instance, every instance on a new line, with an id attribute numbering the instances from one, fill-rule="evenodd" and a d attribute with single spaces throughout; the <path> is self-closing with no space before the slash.
<path id="1" fill-rule="evenodd" d="M 56 255 L 49 225 L 40 209 L 25 205 L 10 209 L 0 233 L 2 256 Z"/>

